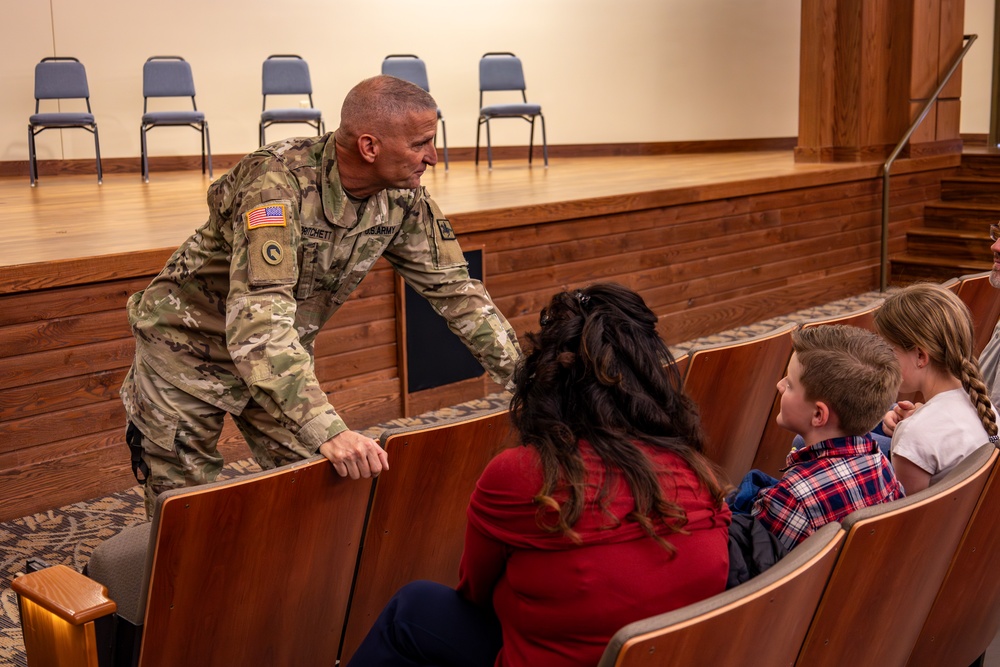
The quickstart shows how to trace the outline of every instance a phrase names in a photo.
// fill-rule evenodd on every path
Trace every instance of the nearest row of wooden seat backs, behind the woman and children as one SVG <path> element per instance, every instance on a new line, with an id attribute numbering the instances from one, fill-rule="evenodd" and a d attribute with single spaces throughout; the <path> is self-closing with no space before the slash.
<path id="1" fill-rule="evenodd" d="M 998 453 L 854 512 L 777 565 L 620 630 L 599 667 L 968 667 L 1000 629 Z"/>

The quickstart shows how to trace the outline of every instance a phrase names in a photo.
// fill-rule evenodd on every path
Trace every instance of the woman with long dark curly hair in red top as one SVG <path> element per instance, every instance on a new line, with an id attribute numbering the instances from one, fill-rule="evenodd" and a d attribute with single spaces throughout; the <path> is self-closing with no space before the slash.
<path id="1" fill-rule="evenodd" d="M 457 591 L 397 593 L 353 665 L 593 665 L 622 626 L 721 592 L 729 509 L 657 317 L 556 294 L 514 373 L 521 446 L 479 479 Z"/>

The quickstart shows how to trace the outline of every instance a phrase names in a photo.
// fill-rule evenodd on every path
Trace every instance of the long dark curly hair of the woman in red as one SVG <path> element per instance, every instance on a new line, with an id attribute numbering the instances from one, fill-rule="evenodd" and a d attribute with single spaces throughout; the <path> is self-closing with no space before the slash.
<path id="1" fill-rule="evenodd" d="M 578 540 L 572 527 L 583 511 L 586 481 L 578 442 L 586 440 L 605 472 L 620 471 L 632 490 L 635 508 L 626 519 L 673 551 L 657 525 L 683 532 L 687 517 L 664 497 L 658 470 L 638 443 L 680 456 L 720 504 L 724 489 L 701 453 L 698 411 L 656 331 L 656 315 L 632 290 L 605 283 L 556 294 L 540 324 L 525 338 L 528 353 L 514 372 L 511 399 L 521 441 L 541 458 L 539 525 Z M 613 478 L 603 476 L 597 496 L 603 508 Z M 562 503 L 557 490 L 567 494 Z M 543 518 L 551 511 L 554 524 Z"/>

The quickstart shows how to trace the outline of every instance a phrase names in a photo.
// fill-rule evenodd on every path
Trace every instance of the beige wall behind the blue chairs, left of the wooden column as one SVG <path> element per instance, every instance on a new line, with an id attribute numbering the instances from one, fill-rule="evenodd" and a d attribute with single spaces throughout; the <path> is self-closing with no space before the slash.
<path id="1" fill-rule="evenodd" d="M 799 0 L 0 0 L 0 9 L 13 40 L 0 73 L 7 99 L 2 160 L 27 158 L 32 72 L 53 54 L 86 65 L 109 158 L 139 155 L 142 63 L 151 55 L 191 62 L 217 154 L 256 147 L 260 63 L 272 53 L 309 61 L 328 129 L 337 125 L 344 94 L 376 74 L 385 55 L 416 53 L 427 62 L 449 144 L 472 146 L 479 58 L 513 51 L 553 144 L 790 137 L 797 130 Z M 494 144 L 524 145 L 527 128 L 498 122 Z M 158 128 L 149 138 L 155 156 L 198 150 L 186 128 Z M 93 141 L 81 130 L 49 130 L 39 137 L 39 156 L 90 159 Z"/>

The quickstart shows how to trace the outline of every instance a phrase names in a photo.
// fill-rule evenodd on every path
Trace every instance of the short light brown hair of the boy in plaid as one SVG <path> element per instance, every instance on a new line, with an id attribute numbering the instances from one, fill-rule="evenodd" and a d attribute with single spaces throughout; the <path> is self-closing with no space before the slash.
<path id="1" fill-rule="evenodd" d="M 810 401 L 826 403 L 845 435 L 864 435 L 896 400 L 902 375 L 892 347 L 875 333 L 842 324 L 792 333 Z"/>

